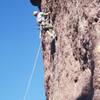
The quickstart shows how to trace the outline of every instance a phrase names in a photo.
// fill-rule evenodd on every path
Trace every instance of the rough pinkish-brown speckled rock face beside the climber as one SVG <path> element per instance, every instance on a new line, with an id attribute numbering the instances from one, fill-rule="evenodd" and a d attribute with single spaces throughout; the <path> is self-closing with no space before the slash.
<path id="1" fill-rule="evenodd" d="M 42 34 L 46 100 L 100 100 L 100 0 L 49 0 L 57 40 Z"/>

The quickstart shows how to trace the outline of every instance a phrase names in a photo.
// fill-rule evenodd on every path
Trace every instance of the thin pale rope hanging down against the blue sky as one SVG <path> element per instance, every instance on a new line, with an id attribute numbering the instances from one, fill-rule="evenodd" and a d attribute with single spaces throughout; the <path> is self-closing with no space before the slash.
<path id="1" fill-rule="evenodd" d="M 38 60 L 40 48 L 41 48 L 41 43 L 40 43 L 40 45 L 39 45 L 39 48 L 38 48 L 38 51 L 37 51 L 37 54 L 36 54 L 36 57 L 35 57 L 33 69 L 32 69 L 32 72 L 31 72 L 31 74 L 30 74 L 30 77 L 29 77 L 29 80 L 28 80 L 28 84 L 27 84 L 27 86 L 26 86 L 26 90 L 25 90 L 25 94 L 24 94 L 23 100 L 26 100 L 26 96 L 27 96 L 27 94 L 28 94 L 29 87 L 30 87 L 30 85 L 31 85 L 32 77 L 33 77 L 34 72 L 35 72 L 35 69 L 36 69 L 36 63 L 37 63 L 37 60 Z"/>

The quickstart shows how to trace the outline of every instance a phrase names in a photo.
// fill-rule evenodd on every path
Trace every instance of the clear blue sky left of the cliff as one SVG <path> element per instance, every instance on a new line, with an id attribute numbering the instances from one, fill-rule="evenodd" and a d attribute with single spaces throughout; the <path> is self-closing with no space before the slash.
<path id="1" fill-rule="evenodd" d="M 0 100 L 23 100 L 35 55 L 39 31 L 29 0 L 0 1 Z M 42 54 L 26 100 L 45 100 Z"/>

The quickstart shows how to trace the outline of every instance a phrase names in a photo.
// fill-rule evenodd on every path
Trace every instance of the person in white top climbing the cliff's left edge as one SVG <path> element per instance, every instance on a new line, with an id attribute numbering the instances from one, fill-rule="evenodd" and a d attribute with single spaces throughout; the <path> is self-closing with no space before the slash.
<path id="1" fill-rule="evenodd" d="M 39 11 L 34 11 L 33 15 L 36 17 L 38 25 L 40 26 L 40 30 L 45 30 L 47 34 L 49 34 L 49 36 L 51 38 L 55 38 L 55 33 L 54 31 L 50 32 L 49 29 L 53 30 L 53 26 L 52 24 L 50 24 L 48 22 L 48 20 L 46 20 L 46 17 L 50 14 L 50 12 L 39 12 Z"/>

